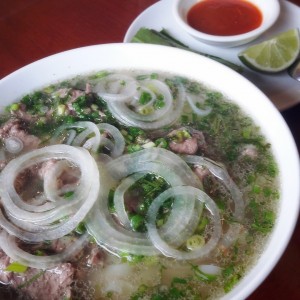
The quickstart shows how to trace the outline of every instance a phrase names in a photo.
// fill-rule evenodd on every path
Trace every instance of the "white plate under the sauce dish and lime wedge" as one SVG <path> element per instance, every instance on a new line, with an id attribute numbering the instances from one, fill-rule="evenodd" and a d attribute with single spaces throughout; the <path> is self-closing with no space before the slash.
<path id="1" fill-rule="evenodd" d="M 184 32 L 175 22 L 171 10 L 172 0 L 162 0 L 140 14 L 129 27 L 124 42 L 130 42 L 141 27 L 156 30 L 166 29 L 175 38 L 187 46 L 201 52 L 220 56 L 236 64 L 242 65 L 237 54 L 251 44 L 258 43 L 271 36 L 291 28 L 300 28 L 300 8 L 287 1 L 280 1 L 281 12 L 275 25 L 257 40 L 235 48 L 218 48 L 203 44 Z M 243 75 L 261 89 L 279 110 L 284 110 L 300 102 L 300 82 L 292 79 L 286 72 L 280 74 L 261 74 L 244 66 Z M 224 78 L 225 80 L 225 78 Z"/>

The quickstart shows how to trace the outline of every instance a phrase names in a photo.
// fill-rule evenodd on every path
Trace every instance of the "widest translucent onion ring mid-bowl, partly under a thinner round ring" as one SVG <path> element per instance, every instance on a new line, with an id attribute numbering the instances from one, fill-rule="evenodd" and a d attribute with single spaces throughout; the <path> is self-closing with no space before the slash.
<path id="1" fill-rule="evenodd" d="M 161 148 L 150 148 L 123 155 L 108 162 L 106 170 L 116 181 L 131 174 L 154 173 L 164 178 L 171 186 L 201 186 L 198 178 L 180 157 Z M 103 177 L 108 178 L 109 174 Z M 105 187 L 109 188 L 109 184 L 105 184 Z M 102 192 L 104 192 L 103 189 Z M 106 194 L 108 195 L 108 191 Z M 107 199 L 107 195 L 100 199 Z M 119 204 L 118 213 L 121 214 L 121 218 L 123 216 L 123 222 L 128 225 L 124 204 Z M 195 214 L 195 201 L 175 201 L 169 219 L 162 228 L 164 238 L 176 245 L 181 244 L 186 238 L 186 227 L 194 228 L 200 214 L 200 210 L 198 210 L 198 214 Z M 132 232 L 129 230 L 129 226 L 126 226 L 128 228 L 126 229 L 116 224 L 105 201 L 97 203 L 87 227 L 97 242 L 112 252 L 129 252 L 137 255 L 158 253 L 145 234 Z"/>

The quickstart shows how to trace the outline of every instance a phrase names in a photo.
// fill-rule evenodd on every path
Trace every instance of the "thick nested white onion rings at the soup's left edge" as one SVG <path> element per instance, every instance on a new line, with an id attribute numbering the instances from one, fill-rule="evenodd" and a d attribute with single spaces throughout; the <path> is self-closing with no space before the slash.
<path id="1" fill-rule="evenodd" d="M 67 160 L 80 169 L 81 177 L 72 200 L 52 199 L 50 206 L 24 202 L 15 190 L 17 175 L 49 159 Z M 60 238 L 86 217 L 98 198 L 100 177 L 97 164 L 83 148 L 54 145 L 28 152 L 11 160 L 0 175 L 0 196 L 10 222 L 0 214 L 0 225 L 12 235 L 32 242 Z M 56 195 L 56 193 L 48 193 Z M 47 195 L 49 196 L 49 195 Z M 49 200 L 49 199 L 48 199 Z"/>

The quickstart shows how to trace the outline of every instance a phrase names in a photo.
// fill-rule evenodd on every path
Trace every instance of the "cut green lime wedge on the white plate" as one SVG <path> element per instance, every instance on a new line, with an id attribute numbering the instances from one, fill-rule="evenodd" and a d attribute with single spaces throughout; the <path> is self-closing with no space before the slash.
<path id="1" fill-rule="evenodd" d="M 298 57 L 300 37 L 298 29 L 290 29 L 239 53 L 239 59 L 250 69 L 262 72 L 280 72 Z"/>

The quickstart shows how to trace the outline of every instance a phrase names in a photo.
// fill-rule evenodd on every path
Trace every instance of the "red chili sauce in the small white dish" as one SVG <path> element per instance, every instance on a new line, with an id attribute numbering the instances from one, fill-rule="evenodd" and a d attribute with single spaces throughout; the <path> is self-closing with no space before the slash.
<path id="1" fill-rule="evenodd" d="M 237 35 L 257 28 L 261 11 L 246 0 L 204 0 L 189 10 L 187 21 L 194 29 L 212 35 Z"/>

